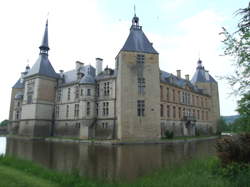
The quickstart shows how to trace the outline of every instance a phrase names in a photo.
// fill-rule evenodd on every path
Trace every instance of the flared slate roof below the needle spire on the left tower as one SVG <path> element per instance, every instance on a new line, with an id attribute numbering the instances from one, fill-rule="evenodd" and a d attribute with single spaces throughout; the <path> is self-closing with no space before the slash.
<path id="1" fill-rule="evenodd" d="M 52 67 L 48 56 L 45 54 L 40 54 L 36 63 L 32 66 L 30 71 L 25 77 L 30 77 L 33 75 L 43 75 L 51 78 L 59 78 L 59 74 L 55 72 Z"/>

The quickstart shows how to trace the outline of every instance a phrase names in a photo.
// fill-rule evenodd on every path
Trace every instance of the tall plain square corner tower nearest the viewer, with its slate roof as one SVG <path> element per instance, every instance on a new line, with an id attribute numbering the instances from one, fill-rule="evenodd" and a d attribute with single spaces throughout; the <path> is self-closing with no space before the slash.
<path id="1" fill-rule="evenodd" d="M 160 138 L 159 56 L 136 15 L 116 70 L 117 138 Z"/>

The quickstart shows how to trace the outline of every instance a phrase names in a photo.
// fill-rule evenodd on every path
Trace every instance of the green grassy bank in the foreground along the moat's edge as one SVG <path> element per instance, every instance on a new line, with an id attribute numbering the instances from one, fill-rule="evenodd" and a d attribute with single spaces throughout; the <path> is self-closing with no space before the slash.
<path id="1" fill-rule="evenodd" d="M 132 182 L 111 183 L 79 177 L 78 174 L 67 175 L 43 168 L 30 161 L 11 157 L 0 157 L 0 186 L 91 186 L 91 187 L 231 187 L 247 186 L 214 174 L 218 161 L 215 158 L 193 160 L 178 167 L 158 170 Z M 242 179 L 245 179 L 244 177 Z M 241 179 L 241 180 L 242 180 Z"/>

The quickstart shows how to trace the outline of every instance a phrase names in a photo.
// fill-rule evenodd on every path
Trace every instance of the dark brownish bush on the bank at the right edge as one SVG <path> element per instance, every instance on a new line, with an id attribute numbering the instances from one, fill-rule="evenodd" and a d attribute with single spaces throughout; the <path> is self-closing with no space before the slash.
<path id="1" fill-rule="evenodd" d="M 222 167 L 232 163 L 250 164 L 250 133 L 219 139 L 216 151 Z"/>

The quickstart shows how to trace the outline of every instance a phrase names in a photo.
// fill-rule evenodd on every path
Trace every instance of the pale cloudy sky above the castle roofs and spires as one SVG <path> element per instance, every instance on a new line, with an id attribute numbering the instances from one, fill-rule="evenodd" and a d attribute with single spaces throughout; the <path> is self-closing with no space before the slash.
<path id="1" fill-rule="evenodd" d="M 160 54 L 160 68 L 175 74 L 194 74 L 200 56 L 218 80 L 222 115 L 236 114 L 235 96 L 218 76 L 233 71 L 232 59 L 223 54 L 221 27 L 234 31 L 233 13 L 247 0 L 8 0 L 0 1 L 0 121 L 8 118 L 11 87 L 20 73 L 38 58 L 39 45 L 49 18 L 49 58 L 58 72 L 73 69 L 75 61 L 114 67 L 134 14 Z"/>

